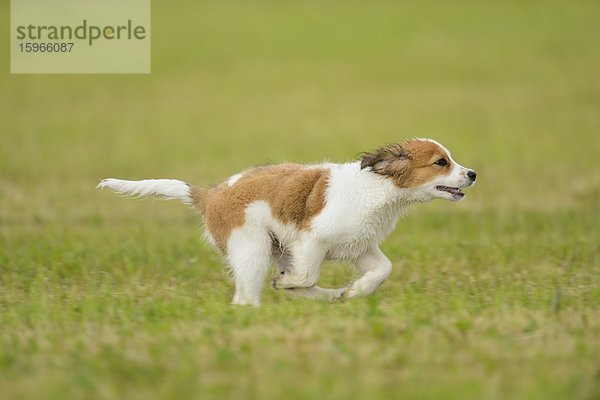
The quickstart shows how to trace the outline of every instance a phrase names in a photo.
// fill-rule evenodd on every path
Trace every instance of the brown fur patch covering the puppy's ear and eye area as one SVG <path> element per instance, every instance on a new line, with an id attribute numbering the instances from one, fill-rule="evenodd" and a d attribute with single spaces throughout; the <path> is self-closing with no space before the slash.
<path id="1" fill-rule="evenodd" d="M 440 158 L 448 164 L 434 164 Z M 360 167 L 370 167 L 373 172 L 390 177 L 398 187 L 411 188 L 449 174 L 452 166 L 443 148 L 428 140 L 412 139 L 366 153 Z"/>

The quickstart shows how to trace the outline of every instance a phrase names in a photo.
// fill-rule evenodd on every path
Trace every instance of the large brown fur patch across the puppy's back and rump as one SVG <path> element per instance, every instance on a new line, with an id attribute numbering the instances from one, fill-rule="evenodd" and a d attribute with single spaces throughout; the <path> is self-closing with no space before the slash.
<path id="1" fill-rule="evenodd" d="M 308 228 L 325 206 L 328 180 L 327 169 L 281 164 L 247 170 L 233 186 L 223 182 L 211 189 L 193 189 L 190 196 L 218 247 L 225 250 L 229 234 L 244 224 L 246 207 L 253 201 L 266 201 L 273 217 L 283 223 Z"/>

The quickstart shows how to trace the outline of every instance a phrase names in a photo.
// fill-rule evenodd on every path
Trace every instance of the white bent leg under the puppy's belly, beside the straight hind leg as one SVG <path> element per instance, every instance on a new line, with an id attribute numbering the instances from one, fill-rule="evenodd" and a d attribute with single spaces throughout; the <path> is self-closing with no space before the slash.
<path id="1" fill-rule="evenodd" d="M 319 281 L 321 264 L 327 250 L 314 239 L 299 240 L 291 248 L 291 267 L 273 278 L 275 289 L 309 288 Z"/>

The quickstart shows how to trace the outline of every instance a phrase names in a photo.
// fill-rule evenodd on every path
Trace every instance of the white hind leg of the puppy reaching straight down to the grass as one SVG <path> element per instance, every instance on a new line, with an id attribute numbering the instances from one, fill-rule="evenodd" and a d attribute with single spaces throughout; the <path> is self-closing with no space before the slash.
<path id="1" fill-rule="evenodd" d="M 235 280 L 232 304 L 260 305 L 260 293 L 271 264 L 268 231 L 248 224 L 235 229 L 227 243 L 227 260 Z"/>

